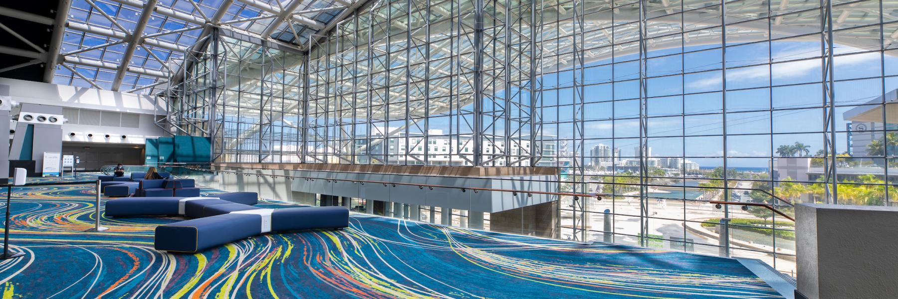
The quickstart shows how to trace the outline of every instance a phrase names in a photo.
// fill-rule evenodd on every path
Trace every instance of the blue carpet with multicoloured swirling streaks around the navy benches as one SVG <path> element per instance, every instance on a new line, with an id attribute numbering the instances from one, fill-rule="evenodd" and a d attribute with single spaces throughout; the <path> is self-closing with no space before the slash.
<path id="1" fill-rule="evenodd" d="M 779 297 L 735 259 L 370 215 L 352 215 L 343 231 L 270 233 L 169 254 L 154 250 L 153 229 L 180 218 L 104 218 L 109 231 L 84 233 L 95 219 L 91 193 L 13 190 L 11 248 L 27 255 L 0 263 L 3 298 Z"/>

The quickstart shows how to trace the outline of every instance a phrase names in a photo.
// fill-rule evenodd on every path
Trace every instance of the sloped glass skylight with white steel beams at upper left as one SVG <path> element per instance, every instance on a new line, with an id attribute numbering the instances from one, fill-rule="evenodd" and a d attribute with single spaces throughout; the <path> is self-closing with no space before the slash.
<path id="1" fill-rule="evenodd" d="M 204 26 L 304 49 L 350 0 L 73 0 L 54 83 L 155 93 Z M 357 0 L 364 1 L 364 0 Z M 145 7 L 152 3 L 153 7 Z M 283 13 L 292 8 L 292 13 Z M 224 13 L 214 20 L 220 10 Z M 312 10 L 312 11 L 310 11 Z M 144 12 L 149 17 L 142 19 Z M 259 18 L 260 19 L 254 19 Z M 240 20 L 247 20 L 239 22 Z M 235 22 L 236 21 L 236 22 Z M 226 22 L 222 24 L 222 22 Z M 142 31 L 141 39 L 131 35 Z"/>

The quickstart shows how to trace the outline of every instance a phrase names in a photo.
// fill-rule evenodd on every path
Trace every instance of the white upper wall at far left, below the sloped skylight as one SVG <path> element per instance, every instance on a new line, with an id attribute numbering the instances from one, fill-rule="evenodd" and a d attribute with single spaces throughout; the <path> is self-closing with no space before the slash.
<path id="1" fill-rule="evenodd" d="M 145 138 L 170 136 L 154 124 L 156 107 L 154 107 L 153 97 L 149 95 L 8 78 L 0 78 L 0 85 L 9 85 L 12 100 L 20 103 L 60 106 L 67 109 L 128 112 L 140 115 L 137 128 L 63 124 L 60 138 L 64 143 L 144 145 Z M 162 111 L 162 108 L 160 107 L 159 110 Z M 15 111 L 16 109 L 13 109 L 13 113 Z M 69 136 L 69 133 L 75 133 L 75 136 Z M 88 134 L 93 134 L 93 137 L 88 137 Z M 107 134 L 110 135 L 110 138 L 104 137 Z M 122 139 L 122 135 L 128 137 Z"/>

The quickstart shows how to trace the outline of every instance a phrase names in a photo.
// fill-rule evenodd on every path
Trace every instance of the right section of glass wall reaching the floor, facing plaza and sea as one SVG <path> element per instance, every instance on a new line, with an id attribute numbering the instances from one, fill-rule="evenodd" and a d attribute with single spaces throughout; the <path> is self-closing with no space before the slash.
<path id="1" fill-rule="evenodd" d="M 605 195 L 559 205 L 562 238 L 764 259 L 790 273 L 793 222 L 708 202 L 788 215 L 788 203 L 893 206 L 896 8 L 546 3 L 542 133 L 558 136 L 562 173 L 583 171 L 571 185 Z"/>

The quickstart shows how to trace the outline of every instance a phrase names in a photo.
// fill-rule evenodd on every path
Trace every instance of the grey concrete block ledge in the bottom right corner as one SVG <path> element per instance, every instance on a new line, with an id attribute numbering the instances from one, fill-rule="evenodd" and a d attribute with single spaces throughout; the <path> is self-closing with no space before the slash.
<path id="1" fill-rule="evenodd" d="M 800 204 L 797 280 L 810 299 L 898 294 L 898 207 Z"/>

